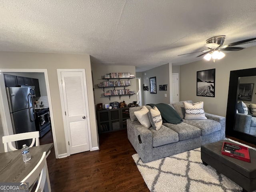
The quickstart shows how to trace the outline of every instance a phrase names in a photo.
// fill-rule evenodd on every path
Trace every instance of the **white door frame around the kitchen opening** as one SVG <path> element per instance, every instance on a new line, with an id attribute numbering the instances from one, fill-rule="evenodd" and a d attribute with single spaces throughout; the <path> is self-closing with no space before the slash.
<path id="1" fill-rule="evenodd" d="M 49 84 L 49 78 L 48 78 L 48 72 L 47 69 L 0 69 L 1 73 L 4 72 L 10 72 L 10 73 L 44 73 L 44 79 L 45 79 L 45 84 L 46 84 L 46 92 L 47 92 L 47 98 L 48 98 L 48 104 L 49 104 L 49 110 L 51 114 L 51 125 L 52 125 L 52 138 L 53 138 L 53 143 L 54 143 L 54 151 L 55 151 L 55 158 L 58 159 L 58 146 L 57 146 L 57 140 L 56 140 L 56 132 L 55 132 L 55 126 L 54 126 L 54 114 L 52 110 L 52 100 L 51 100 L 51 92 L 50 92 L 50 84 Z M 12 127 L 12 124 L 7 121 L 6 118 L 7 115 L 10 115 L 10 110 L 9 108 L 5 107 L 4 102 L 7 101 L 7 95 L 6 95 L 6 90 L 5 90 L 5 85 L 4 85 L 4 76 L 2 74 L 2 79 L 0 80 L 0 115 L 2 119 L 2 126 L 3 126 L 3 131 L 4 135 L 10 135 L 13 134 L 13 132 L 10 132 L 8 129 L 9 127 Z M 6 97 L 6 98 L 5 98 Z"/>

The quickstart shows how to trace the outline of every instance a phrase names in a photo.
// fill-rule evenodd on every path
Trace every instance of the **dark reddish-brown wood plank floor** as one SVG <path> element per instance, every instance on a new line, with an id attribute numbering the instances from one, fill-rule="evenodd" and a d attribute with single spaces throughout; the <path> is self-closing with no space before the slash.
<path id="1" fill-rule="evenodd" d="M 242 140 L 238 142 L 256 147 Z M 149 192 L 132 155 L 126 130 L 100 134 L 100 150 L 56 159 L 54 149 L 47 158 L 52 192 Z M 53 142 L 49 131 L 40 144 Z"/>

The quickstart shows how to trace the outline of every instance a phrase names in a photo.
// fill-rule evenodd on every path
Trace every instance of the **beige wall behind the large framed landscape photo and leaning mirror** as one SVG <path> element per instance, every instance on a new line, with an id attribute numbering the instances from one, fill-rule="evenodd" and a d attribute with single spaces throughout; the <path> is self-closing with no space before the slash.
<path id="1" fill-rule="evenodd" d="M 256 67 L 256 46 L 226 53 L 221 60 L 200 60 L 180 66 L 180 100 L 204 101 L 204 110 L 226 116 L 230 71 Z M 196 72 L 216 69 L 215 97 L 196 96 Z"/>

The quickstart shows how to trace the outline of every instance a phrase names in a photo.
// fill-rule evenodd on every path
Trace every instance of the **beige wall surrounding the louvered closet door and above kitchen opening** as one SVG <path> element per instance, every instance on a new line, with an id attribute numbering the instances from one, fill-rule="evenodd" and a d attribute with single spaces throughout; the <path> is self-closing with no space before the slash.
<path id="1" fill-rule="evenodd" d="M 92 72 L 89 55 L 0 52 L 0 58 L 1 69 L 47 69 L 52 100 L 52 110 L 54 115 L 54 126 L 57 142 L 56 144 L 58 146 L 59 154 L 66 153 L 66 142 L 62 113 L 60 113 L 61 103 L 57 69 L 84 68 L 86 70 L 86 84 L 88 89 L 90 112 L 89 123 L 91 127 L 92 147 L 98 147 L 96 113 L 94 107 L 92 86 Z M 4 79 L 2 78 L 0 79 L 0 81 L 4 81 Z"/>

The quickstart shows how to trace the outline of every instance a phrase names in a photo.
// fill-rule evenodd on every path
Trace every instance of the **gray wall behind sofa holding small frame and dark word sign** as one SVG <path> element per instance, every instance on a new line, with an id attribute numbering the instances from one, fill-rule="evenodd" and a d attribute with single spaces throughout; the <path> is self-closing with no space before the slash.
<path id="1" fill-rule="evenodd" d="M 146 73 L 146 75 L 145 75 Z M 148 86 L 149 91 L 144 92 L 144 104 L 157 104 L 157 103 L 170 103 L 170 93 L 172 91 L 172 64 L 164 64 L 162 66 L 153 68 L 143 72 L 143 83 L 145 86 Z M 150 81 L 151 77 L 156 77 L 156 94 L 150 93 Z M 160 91 L 159 85 L 167 84 L 167 91 Z M 164 94 L 167 94 L 167 97 L 164 97 Z"/>

